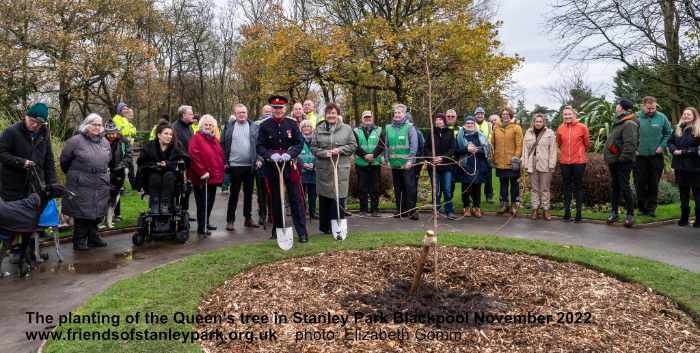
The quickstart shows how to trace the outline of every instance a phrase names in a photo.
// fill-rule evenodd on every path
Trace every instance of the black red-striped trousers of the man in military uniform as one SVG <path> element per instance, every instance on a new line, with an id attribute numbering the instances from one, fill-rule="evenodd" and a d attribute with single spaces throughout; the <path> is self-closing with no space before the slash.
<path id="1" fill-rule="evenodd" d="M 272 211 L 272 235 L 276 234 L 277 227 L 282 227 L 282 204 L 280 200 L 280 184 L 279 175 L 275 166 L 271 163 L 267 163 L 266 166 L 266 180 L 267 180 L 267 190 L 270 191 L 269 199 L 270 211 Z M 285 206 L 292 209 L 292 219 L 294 223 L 294 229 L 297 235 L 308 235 L 306 231 L 306 218 L 304 215 L 304 198 L 302 196 L 303 188 L 301 186 L 301 180 L 292 182 L 292 177 L 290 175 L 290 167 L 285 167 L 284 170 L 284 188 L 287 190 L 287 200 L 285 200 Z M 301 179 L 301 176 L 299 176 Z M 289 218 L 285 218 L 285 226 L 291 226 Z"/>

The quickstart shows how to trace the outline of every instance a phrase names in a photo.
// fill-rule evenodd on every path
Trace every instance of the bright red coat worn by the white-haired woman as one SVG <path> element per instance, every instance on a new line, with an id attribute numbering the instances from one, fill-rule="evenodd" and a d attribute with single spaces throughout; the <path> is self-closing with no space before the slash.
<path id="1" fill-rule="evenodd" d="M 193 185 L 204 185 L 200 177 L 209 173 L 209 185 L 224 183 L 224 151 L 214 136 L 198 132 L 190 140 L 188 147 L 192 165 L 187 171 L 187 177 Z"/>

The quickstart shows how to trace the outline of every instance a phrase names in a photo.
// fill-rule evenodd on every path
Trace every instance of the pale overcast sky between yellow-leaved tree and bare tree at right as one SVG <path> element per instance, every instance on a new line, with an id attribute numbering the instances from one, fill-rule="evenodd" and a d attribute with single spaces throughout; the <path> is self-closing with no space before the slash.
<path id="1" fill-rule="evenodd" d="M 498 19 L 503 21 L 500 31 L 502 49 L 508 54 L 517 53 L 525 58 L 513 78 L 525 94 L 528 108 L 535 104 L 548 107 L 559 103 L 547 91 L 548 86 L 556 85 L 575 66 L 586 72 L 586 81 L 597 94 L 612 98 L 612 83 L 615 72 L 621 67 L 615 62 L 588 62 L 585 64 L 568 61 L 557 66 L 556 38 L 546 33 L 544 22 L 548 14 L 550 0 L 500 0 Z"/>

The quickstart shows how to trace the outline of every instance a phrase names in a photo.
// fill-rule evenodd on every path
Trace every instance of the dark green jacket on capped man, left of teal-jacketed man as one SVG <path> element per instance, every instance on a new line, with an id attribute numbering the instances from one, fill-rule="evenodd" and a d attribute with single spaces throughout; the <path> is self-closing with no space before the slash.
<path id="1" fill-rule="evenodd" d="M 624 112 L 615 118 L 605 141 L 603 158 L 608 164 L 634 162 L 639 150 L 639 122 L 634 113 Z"/>

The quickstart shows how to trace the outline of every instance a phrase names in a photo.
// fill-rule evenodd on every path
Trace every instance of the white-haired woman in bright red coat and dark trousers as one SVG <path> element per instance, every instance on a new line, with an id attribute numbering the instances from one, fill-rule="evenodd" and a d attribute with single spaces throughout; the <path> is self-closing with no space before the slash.
<path id="1" fill-rule="evenodd" d="M 199 119 L 199 132 L 192 137 L 188 147 L 192 165 L 187 171 L 187 177 L 194 186 L 194 199 L 197 203 L 197 234 L 202 237 L 216 230 L 208 220 L 211 209 L 214 207 L 216 187 L 224 182 L 224 152 L 216 138 L 216 129 L 216 119 L 209 114 L 204 115 Z"/>

